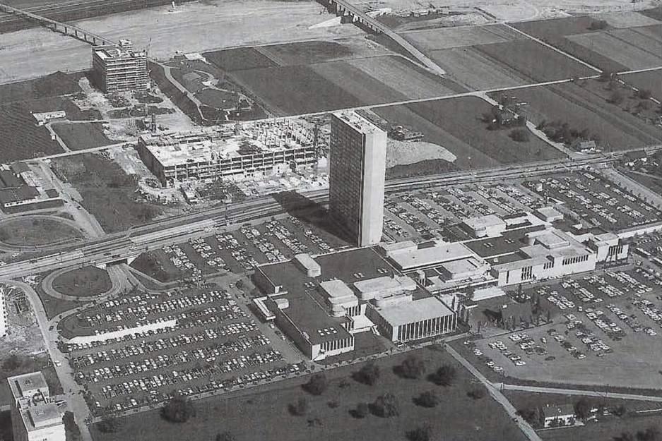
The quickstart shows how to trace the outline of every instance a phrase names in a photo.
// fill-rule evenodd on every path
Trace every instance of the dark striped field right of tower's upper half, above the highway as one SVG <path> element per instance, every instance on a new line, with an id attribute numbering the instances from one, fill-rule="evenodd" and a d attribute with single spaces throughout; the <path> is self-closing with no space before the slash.
<path id="1" fill-rule="evenodd" d="M 491 105 L 478 97 L 380 107 L 373 111 L 391 124 L 410 126 L 424 133 L 428 143 L 441 145 L 456 156 L 460 169 L 495 167 L 499 164 L 541 161 L 561 157 L 561 153 L 531 135 L 528 142 L 516 143 L 509 130 L 488 131 L 483 114 Z"/>

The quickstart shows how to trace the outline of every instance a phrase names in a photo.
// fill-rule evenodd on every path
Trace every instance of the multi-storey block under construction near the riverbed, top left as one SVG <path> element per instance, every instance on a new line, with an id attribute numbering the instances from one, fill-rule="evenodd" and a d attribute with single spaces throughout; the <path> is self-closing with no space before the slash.
<path id="1" fill-rule="evenodd" d="M 131 40 L 92 48 L 93 80 L 102 92 L 132 92 L 148 86 L 147 54 L 134 51 Z"/>

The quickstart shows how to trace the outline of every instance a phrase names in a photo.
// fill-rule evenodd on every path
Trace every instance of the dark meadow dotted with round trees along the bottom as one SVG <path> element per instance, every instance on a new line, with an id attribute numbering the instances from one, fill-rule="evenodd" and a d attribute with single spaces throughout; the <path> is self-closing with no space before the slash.
<path id="1" fill-rule="evenodd" d="M 408 380 L 394 373 L 394 366 L 404 356 L 398 355 L 377 361 L 381 376 L 374 386 L 362 385 L 350 378 L 360 366 L 329 370 L 330 385 L 321 396 L 313 397 L 300 385 L 307 378 L 285 380 L 274 385 L 241 392 L 242 397 L 213 398 L 196 401 L 196 416 L 191 421 L 174 425 L 166 423 L 158 410 L 122 418 L 122 428 L 114 434 L 100 433 L 93 428 L 95 441 L 119 441 L 133 437 L 141 441 L 167 439 L 208 441 L 225 430 L 237 441 L 304 441 L 304 440 L 406 440 L 406 432 L 422 424 L 432 427 L 432 439 L 492 441 L 520 441 L 526 438 L 508 418 L 502 408 L 489 396 L 472 399 L 467 392 L 477 385 L 473 377 L 453 358 L 438 349 L 415 351 L 425 360 L 427 371 L 449 364 L 456 368 L 456 380 L 449 387 L 439 387 L 425 379 Z M 421 392 L 434 389 L 440 402 L 436 408 L 416 406 L 413 399 Z M 380 418 L 368 415 L 354 418 L 351 412 L 359 403 L 371 403 L 379 395 L 394 394 L 400 407 L 399 416 Z M 232 399 L 230 399 L 232 397 Z M 288 404 L 305 397 L 309 411 L 305 416 L 293 416 Z M 471 418 L 467 418 L 471 415 Z M 319 420 L 319 425 L 309 421 Z M 246 424 L 251 421 L 251 424 Z M 495 438 L 495 435 L 497 438 Z"/>

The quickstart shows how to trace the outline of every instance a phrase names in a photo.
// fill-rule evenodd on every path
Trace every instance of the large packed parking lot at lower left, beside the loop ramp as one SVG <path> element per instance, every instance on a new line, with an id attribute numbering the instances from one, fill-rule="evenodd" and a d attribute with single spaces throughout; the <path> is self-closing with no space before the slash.
<path id="1" fill-rule="evenodd" d="M 176 319 L 174 327 L 105 342 L 64 344 L 76 381 L 96 414 L 153 406 L 173 391 L 203 394 L 295 373 L 247 309 L 223 289 L 208 287 L 125 296 L 61 323 L 66 337 L 124 330 Z M 272 337 L 275 332 L 271 333 Z M 280 346 L 282 347 L 282 346 Z"/>

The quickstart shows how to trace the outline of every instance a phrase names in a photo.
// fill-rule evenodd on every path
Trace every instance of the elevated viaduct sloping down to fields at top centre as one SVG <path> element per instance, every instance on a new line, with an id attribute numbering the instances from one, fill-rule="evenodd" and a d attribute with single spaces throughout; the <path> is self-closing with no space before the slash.
<path id="1" fill-rule="evenodd" d="M 428 70 L 436 73 L 437 75 L 444 75 L 446 71 L 440 68 L 434 61 L 432 61 L 425 54 L 416 49 L 413 44 L 405 40 L 400 35 L 396 34 L 391 28 L 379 23 L 378 20 L 367 15 L 361 9 L 351 4 L 349 0 L 317 0 L 324 5 L 329 11 L 336 13 L 336 16 L 343 18 L 344 23 L 354 23 L 362 29 L 372 32 L 377 35 L 385 35 L 395 44 L 398 44 L 405 52 L 418 60 L 420 64 L 425 66 Z"/>

